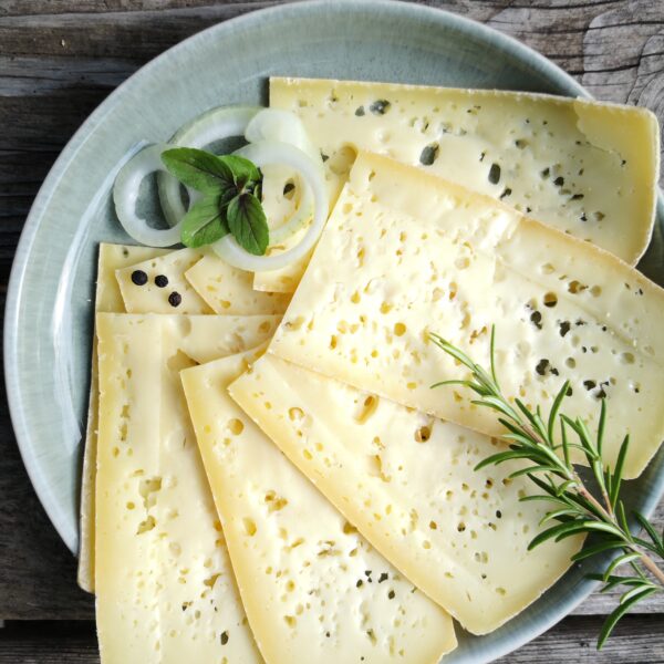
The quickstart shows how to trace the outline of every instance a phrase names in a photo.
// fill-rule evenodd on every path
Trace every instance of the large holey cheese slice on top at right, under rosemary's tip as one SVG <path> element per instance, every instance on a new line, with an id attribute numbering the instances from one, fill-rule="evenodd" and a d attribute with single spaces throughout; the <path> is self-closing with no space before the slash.
<path id="1" fill-rule="evenodd" d="M 361 154 L 270 351 L 361 390 L 488 435 L 495 414 L 436 332 L 484 366 L 496 325 L 502 391 L 593 428 L 604 456 L 629 432 L 625 477 L 664 434 L 664 291 L 610 253 L 419 169 Z"/>

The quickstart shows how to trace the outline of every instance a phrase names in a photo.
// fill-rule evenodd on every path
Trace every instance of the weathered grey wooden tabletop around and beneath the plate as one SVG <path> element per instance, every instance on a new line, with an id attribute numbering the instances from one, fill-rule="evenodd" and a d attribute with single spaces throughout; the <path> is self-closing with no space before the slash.
<path id="1" fill-rule="evenodd" d="M 19 234 L 53 160 L 89 113 L 145 62 L 266 1 L 0 0 L 0 295 Z M 601 100 L 664 120 L 664 0 L 426 2 L 539 50 Z M 3 390 L 4 385 L 0 387 Z M 656 516 L 664 522 L 664 506 Z M 512 663 L 664 663 L 664 595 L 637 605 L 601 655 L 614 598 L 593 595 Z M 30 485 L 0 400 L 0 662 L 96 662 L 92 598 Z M 2 623 L 0 623 L 2 624 Z M 196 663 L 195 663 L 196 664 Z"/>

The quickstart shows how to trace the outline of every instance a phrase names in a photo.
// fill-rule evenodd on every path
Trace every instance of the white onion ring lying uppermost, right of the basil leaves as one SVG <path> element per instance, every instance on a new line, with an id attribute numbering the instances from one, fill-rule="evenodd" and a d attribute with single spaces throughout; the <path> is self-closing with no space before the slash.
<path id="1" fill-rule="evenodd" d="M 231 235 L 227 235 L 211 247 L 227 263 L 240 270 L 263 272 L 279 270 L 307 256 L 308 251 L 319 239 L 328 220 L 328 191 L 325 181 L 318 164 L 304 152 L 278 141 L 252 143 L 242 148 L 245 157 L 259 168 L 267 164 L 282 164 L 297 170 L 304 183 L 311 188 L 314 200 L 313 221 L 302 240 L 283 253 L 273 256 L 253 256 L 245 251 Z"/>

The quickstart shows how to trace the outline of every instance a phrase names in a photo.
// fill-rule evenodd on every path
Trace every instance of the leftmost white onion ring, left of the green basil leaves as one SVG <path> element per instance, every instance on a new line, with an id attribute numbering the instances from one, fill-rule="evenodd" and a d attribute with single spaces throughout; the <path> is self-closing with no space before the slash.
<path id="1" fill-rule="evenodd" d="M 151 145 L 132 157 L 120 170 L 113 185 L 113 203 L 122 227 L 137 242 L 148 247 L 172 247 L 180 241 L 180 222 L 173 228 L 151 228 L 136 212 L 143 178 L 155 170 L 165 170 L 162 153 L 173 147 L 165 143 Z"/>

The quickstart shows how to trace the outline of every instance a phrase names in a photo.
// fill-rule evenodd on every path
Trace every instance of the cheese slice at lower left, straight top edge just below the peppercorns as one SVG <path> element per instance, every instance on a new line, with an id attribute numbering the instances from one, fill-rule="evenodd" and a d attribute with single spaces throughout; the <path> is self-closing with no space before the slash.
<path id="1" fill-rule="evenodd" d="M 261 343 L 274 324 L 274 317 L 97 315 L 102 662 L 261 661 L 179 372 Z"/>

